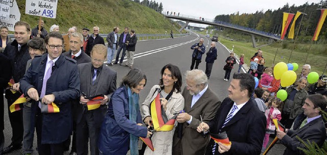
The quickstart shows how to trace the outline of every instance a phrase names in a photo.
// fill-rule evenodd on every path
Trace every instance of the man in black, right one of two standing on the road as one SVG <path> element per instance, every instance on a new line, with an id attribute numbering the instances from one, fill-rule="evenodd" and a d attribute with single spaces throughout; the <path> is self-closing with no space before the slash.
<path id="1" fill-rule="evenodd" d="M 205 74 L 206 77 L 209 79 L 211 75 L 211 70 L 213 69 L 214 62 L 217 59 L 217 48 L 216 48 L 216 42 L 211 43 L 211 48 L 209 51 L 206 53 L 206 58 L 205 58 Z"/>

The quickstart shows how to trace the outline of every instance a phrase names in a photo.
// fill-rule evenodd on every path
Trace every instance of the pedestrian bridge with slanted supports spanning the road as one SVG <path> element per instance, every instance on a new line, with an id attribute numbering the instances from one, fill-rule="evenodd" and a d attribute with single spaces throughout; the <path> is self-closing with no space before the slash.
<path id="1" fill-rule="evenodd" d="M 200 23 L 200 24 L 207 24 L 207 25 L 214 25 L 214 26 L 218 26 L 218 27 L 223 27 L 223 28 L 227 28 L 227 29 L 233 29 L 233 30 L 238 30 L 241 31 L 243 33 L 249 34 L 251 35 L 252 38 L 252 44 L 253 47 L 255 48 L 255 38 L 254 35 L 256 36 L 262 36 L 262 37 L 266 37 L 266 38 L 270 38 L 270 39 L 274 39 L 274 40 L 281 40 L 280 36 L 268 33 L 268 32 L 263 32 L 263 31 L 259 31 L 259 30 L 255 30 L 252 28 L 247 28 L 247 27 L 242 27 L 240 25 L 236 25 L 236 24 L 231 24 L 228 22 L 224 22 L 224 21 L 216 21 L 213 19 L 207 19 L 207 18 L 202 18 L 202 17 L 194 17 L 194 16 L 190 16 L 190 15 L 169 15 L 169 14 L 164 14 L 165 17 L 167 18 L 171 18 L 171 19 L 177 19 L 177 20 L 181 20 L 181 21 L 185 21 L 185 24 L 182 25 L 182 28 L 179 30 L 179 32 L 181 32 L 190 22 L 192 23 Z"/>

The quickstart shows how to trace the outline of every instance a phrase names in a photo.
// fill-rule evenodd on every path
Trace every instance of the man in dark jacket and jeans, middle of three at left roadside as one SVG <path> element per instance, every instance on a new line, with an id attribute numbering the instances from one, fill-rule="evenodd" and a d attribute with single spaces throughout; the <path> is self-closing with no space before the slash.
<path id="1" fill-rule="evenodd" d="M 130 37 L 131 37 L 131 35 L 128 33 L 128 28 L 126 27 L 124 29 L 124 32 L 119 37 L 119 42 L 118 42 L 119 49 L 116 54 L 116 61 L 113 64 L 118 64 L 119 55 L 121 54 L 121 51 L 123 49 L 123 54 L 122 54 L 121 60 L 119 61 L 119 64 L 122 65 L 124 57 L 126 55 L 126 47 L 127 47 L 126 43 L 129 42 Z"/>

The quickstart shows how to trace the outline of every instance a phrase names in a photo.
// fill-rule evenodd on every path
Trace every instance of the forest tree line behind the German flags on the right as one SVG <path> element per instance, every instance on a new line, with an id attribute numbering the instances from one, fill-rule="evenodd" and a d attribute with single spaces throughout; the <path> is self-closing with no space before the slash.
<path id="1" fill-rule="evenodd" d="M 320 10 L 317 9 L 323 9 L 327 8 L 327 1 L 320 1 L 319 3 L 311 3 L 308 2 L 300 5 L 290 6 L 288 3 L 284 5 L 282 8 L 278 8 L 277 10 L 267 10 L 264 12 L 256 11 L 255 13 L 243 13 L 240 14 L 239 12 L 233 13 L 233 14 L 223 14 L 223 15 L 217 15 L 215 17 L 215 21 L 225 21 L 232 24 L 238 24 L 243 27 L 253 28 L 260 31 L 270 32 L 273 34 L 281 34 L 282 31 L 282 22 L 283 22 L 283 12 L 287 13 L 296 13 L 297 11 L 300 11 L 302 13 L 305 13 L 305 15 L 299 16 L 299 18 L 296 20 L 295 24 L 295 35 L 297 34 L 298 29 L 299 30 L 299 36 L 313 36 L 317 23 L 320 18 Z M 301 18 L 303 16 L 302 22 Z M 300 28 L 299 24 L 301 22 Z M 288 34 L 288 33 L 287 33 Z M 287 38 L 287 36 L 286 36 Z M 323 24 L 323 27 L 319 34 L 320 39 L 327 38 L 327 24 Z"/>

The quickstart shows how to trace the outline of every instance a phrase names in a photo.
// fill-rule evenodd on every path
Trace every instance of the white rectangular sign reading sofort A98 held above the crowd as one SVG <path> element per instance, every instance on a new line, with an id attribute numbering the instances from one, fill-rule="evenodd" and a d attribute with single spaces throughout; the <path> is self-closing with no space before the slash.
<path id="1" fill-rule="evenodd" d="M 56 18 L 57 0 L 26 0 L 25 13 L 46 18 Z"/>

